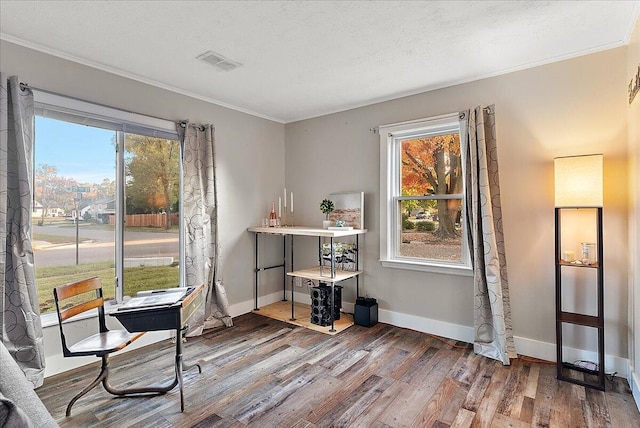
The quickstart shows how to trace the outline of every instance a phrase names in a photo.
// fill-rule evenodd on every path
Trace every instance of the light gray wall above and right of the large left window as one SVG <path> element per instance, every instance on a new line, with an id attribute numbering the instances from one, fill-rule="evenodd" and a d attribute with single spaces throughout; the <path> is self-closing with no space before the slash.
<path id="1" fill-rule="evenodd" d="M 246 228 L 260 223 L 282 189 L 284 125 L 12 43 L 0 43 L 3 73 L 18 75 L 34 87 L 169 120 L 215 125 L 220 272 L 231 303 L 251 301 L 254 251 L 253 237 Z M 46 329 L 45 353 L 55 367 L 61 353 L 58 340 L 57 327 Z M 52 372 L 48 369 L 47 374 Z"/>

